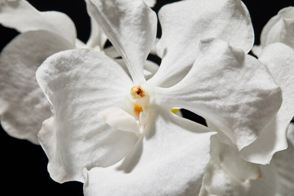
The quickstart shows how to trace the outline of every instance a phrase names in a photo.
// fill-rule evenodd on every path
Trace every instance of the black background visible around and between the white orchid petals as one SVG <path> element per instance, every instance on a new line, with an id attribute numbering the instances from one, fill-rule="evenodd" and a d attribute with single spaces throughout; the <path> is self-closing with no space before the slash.
<path id="1" fill-rule="evenodd" d="M 28 0 L 40 11 L 55 10 L 66 13 L 74 22 L 77 29 L 77 37 L 86 42 L 90 35 L 90 19 L 86 12 L 83 0 Z M 157 0 L 153 8 L 158 12 L 160 7 L 176 0 Z M 208 0 L 209 1 L 209 0 Z M 259 36 L 263 26 L 277 12 L 287 6 L 294 6 L 293 0 L 244 0 L 255 31 L 255 44 L 259 44 Z M 160 26 L 159 26 L 160 27 Z M 14 29 L 0 25 L 0 49 L 8 44 L 18 32 Z M 160 37 L 160 28 L 158 37 Z M 160 59 L 150 57 L 160 62 Z M 189 111 L 183 111 L 186 118 L 198 123 L 204 123 L 203 119 Z M 0 127 L 1 149 L 1 192 L 7 191 L 8 196 L 82 196 L 83 184 L 79 182 L 66 182 L 59 184 L 54 182 L 47 172 L 48 159 L 40 146 L 28 141 L 19 140 L 8 136 Z"/>

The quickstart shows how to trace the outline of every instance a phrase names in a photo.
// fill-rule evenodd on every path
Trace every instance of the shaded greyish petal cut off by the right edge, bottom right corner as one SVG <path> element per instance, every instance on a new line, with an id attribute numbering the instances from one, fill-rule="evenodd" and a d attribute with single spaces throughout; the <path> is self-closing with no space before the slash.
<path id="1" fill-rule="evenodd" d="M 277 196 L 292 196 L 294 193 L 294 123 L 288 129 L 288 148 L 277 152 L 272 158 L 278 172 Z"/>

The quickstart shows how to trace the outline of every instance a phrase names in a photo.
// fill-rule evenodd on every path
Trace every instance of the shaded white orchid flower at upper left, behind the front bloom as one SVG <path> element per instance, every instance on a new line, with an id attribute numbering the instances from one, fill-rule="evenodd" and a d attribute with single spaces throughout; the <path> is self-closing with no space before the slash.
<path id="1" fill-rule="evenodd" d="M 35 79 L 41 63 L 51 54 L 74 48 L 93 48 L 112 57 L 119 54 L 113 47 L 103 50 L 107 37 L 92 19 L 91 36 L 84 44 L 76 38 L 75 26 L 67 15 L 39 12 L 26 0 L 0 0 L 0 24 L 21 32 L 0 55 L 1 125 L 9 135 L 39 144 L 37 133 L 51 114 Z M 144 73 L 149 78 L 157 69 L 158 65 L 147 61 Z"/>

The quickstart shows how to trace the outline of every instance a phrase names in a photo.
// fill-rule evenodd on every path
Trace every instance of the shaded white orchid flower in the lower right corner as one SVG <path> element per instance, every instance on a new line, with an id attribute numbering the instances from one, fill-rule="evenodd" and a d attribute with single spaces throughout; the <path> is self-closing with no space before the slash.
<path id="1" fill-rule="evenodd" d="M 270 165 L 246 162 L 238 151 L 213 137 L 211 159 L 199 196 L 292 196 L 294 193 L 294 123 L 288 148 L 274 154 Z"/>

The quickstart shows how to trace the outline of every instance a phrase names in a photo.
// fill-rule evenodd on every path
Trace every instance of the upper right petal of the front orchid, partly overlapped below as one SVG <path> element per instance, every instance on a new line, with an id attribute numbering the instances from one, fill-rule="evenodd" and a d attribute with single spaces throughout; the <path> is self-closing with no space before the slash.
<path id="1" fill-rule="evenodd" d="M 189 72 L 202 39 L 219 38 L 245 53 L 254 43 L 251 19 L 241 0 L 183 0 L 163 6 L 158 18 L 162 36 L 157 53 L 162 64 L 152 80 L 162 87 L 176 84 Z"/>

